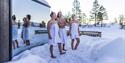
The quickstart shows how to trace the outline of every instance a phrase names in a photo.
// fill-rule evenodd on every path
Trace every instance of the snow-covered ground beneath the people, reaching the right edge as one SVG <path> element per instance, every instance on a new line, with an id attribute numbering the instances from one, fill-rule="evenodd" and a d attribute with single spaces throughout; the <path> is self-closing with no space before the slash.
<path id="1" fill-rule="evenodd" d="M 100 31 L 102 37 L 82 35 L 77 50 L 71 50 L 71 40 L 68 37 L 66 54 L 59 55 L 58 47 L 54 47 L 56 59 L 50 58 L 49 45 L 45 44 L 14 56 L 9 63 L 125 63 L 125 30 L 119 29 L 117 24 L 110 28 L 91 27 L 81 30 Z M 37 40 L 41 39 L 46 37 Z"/>

